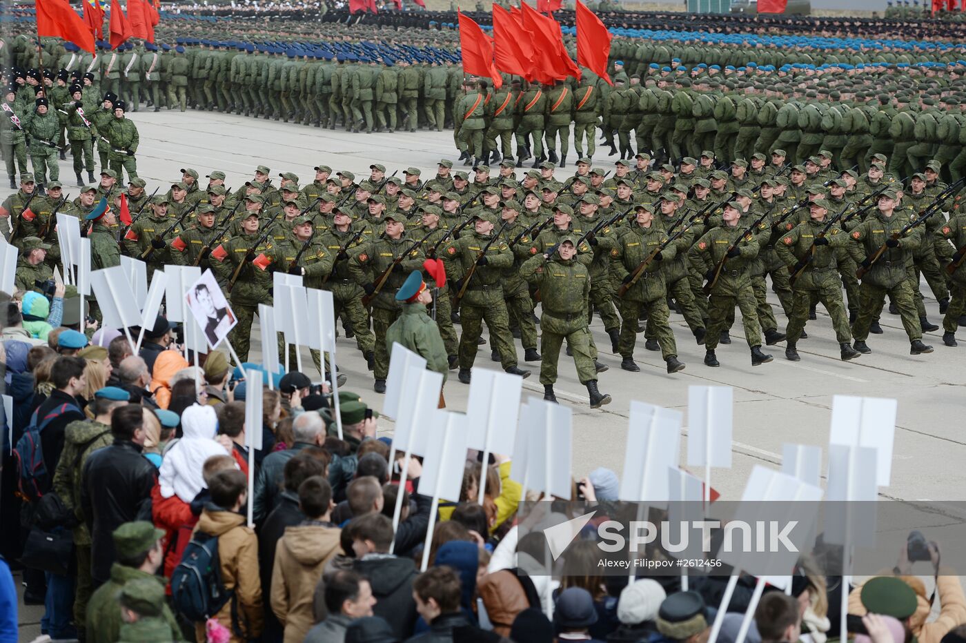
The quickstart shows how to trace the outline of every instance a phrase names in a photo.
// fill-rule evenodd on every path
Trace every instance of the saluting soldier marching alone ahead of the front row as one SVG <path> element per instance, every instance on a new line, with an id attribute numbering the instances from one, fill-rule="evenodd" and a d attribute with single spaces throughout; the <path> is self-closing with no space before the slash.
<path id="1" fill-rule="evenodd" d="M 521 276 L 543 293 L 540 328 L 542 330 L 540 383 L 544 400 L 556 402 L 554 382 L 560 346 L 567 341 L 574 355 L 577 377 L 587 387 L 590 407 L 611 404 L 611 396 L 597 388 L 597 371 L 590 356 L 590 330 L 586 301 L 590 295 L 590 275 L 578 262 L 577 240 L 567 236 L 553 251 L 538 254 L 521 266 Z"/>

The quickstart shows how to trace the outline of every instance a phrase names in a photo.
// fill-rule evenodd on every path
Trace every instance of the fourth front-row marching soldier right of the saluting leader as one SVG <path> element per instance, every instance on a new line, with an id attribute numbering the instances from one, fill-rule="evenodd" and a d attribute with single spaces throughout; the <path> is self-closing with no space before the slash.
<path id="1" fill-rule="evenodd" d="M 892 296 L 902 318 L 902 326 L 910 342 L 909 354 L 932 352 L 931 346 L 923 344 L 923 330 L 917 318 L 918 311 L 910 280 L 906 275 L 906 263 L 922 242 L 922 229 L 916 227 L 904 236 L 898 236 L 909 220 L 903 220 L 897 215 L 897 198 L 898 194 L 891 188 L 879 194 L 878 210 L 874 214 L 870 213 L 864 222 L 852 230 L 852 242 L 847 246 L 856 263 L 867 270 L 859 287 L 862 307 L 852 327 L 854 348 L 866 354 L 872 352 L 866 345 L 869 325 L 872 318 L 882 310 L 886 294 Z M 883 247 L 886 248 L 885 251 L 873 264 L 872 257 Z"/>

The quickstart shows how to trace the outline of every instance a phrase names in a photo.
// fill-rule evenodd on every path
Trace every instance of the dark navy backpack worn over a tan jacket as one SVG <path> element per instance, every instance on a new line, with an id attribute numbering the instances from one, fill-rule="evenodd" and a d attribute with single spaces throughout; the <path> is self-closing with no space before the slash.
<path id="1" fill-rule="evenodd" d="M 218 560 L 218 537 L 202 531 L 185 545 L 185 553 L 171 573 L 171 598 L 175 611 L 193 623 L 215 616 L 232 601 L 232 629 L 236 629 L 235 591 L 225 589 Z"/>

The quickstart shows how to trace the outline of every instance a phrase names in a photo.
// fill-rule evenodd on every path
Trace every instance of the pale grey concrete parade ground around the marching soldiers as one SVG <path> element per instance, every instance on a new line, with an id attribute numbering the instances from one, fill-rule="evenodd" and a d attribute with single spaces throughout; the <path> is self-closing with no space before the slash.
<path id="1" fill-rule="evenodd" d="M 344 129 L 329 130 L 281 122 L 255 120 L 241 116 L 188 110 L 141 111 L 128 115 L 138 126 L 141 142 L 137 154 L 138 172 L 148 182 L 149 193 L 158 184 L 180 179 L 181 168 L 194 168 L 201 175 L 212 170 L 226 173 L 226 184 L 237 189 L 251 178 L 255 166 L 268 165 L 278 183 L 279 172 L 295 172 L 299 183 L 310 182 L 313 167 L 330 165 L 333 170 L 350 170 L 360 180 L 368 176 L 369 164 L 383 163 L 388 172 L 416 166 L 423 179 L 432 178 L 440 158 L 455 160 L 452 132 L 394 134 L 353 134 Z M 598 155 L 594 166 L 611 169 L 613 159 Z M 462 168 L 461 163 L 454 165 Z M 572 164 L 556 170 L 560 181 L 573 173 Z M 521 172 L 518 170 L 518 175 Z M 71 198 L 76 196 L 70 156 L 61 161 L 61 181 Z M 162 185 L 161 192 L 166 191 Z M 9 190 L 4 190 L 4 197 Z M 924 287 L 924 284 L 923 284 Z M 923 293 L 927 293 L 923 290 Z M 772 296 L 773 304 L 777 299 Z M 931 294 L 925 294 L 926 309 L 932 322 L 941 317 Z M 780 330 L 785 323 L 779 314 Z M 810 338 L 798 350 L 802 361 L 784 359 L 784 344 L 770 347 L 775 361 L 752 367 L 747 345 L 738 322 L 731 330 L 733 343 L 721 346 L 718 357 L 722 367 L 710 369 L 701 360 L 704 348 L 696 346 L 680 315 L 671 314 L 678 341 L 679 358 L 687 369 L 674 376 L 665 372 L 659 352 L 643 347 L 639 338 L 636 359 L 641 373 L 620 370 L 620 358 L 611 353 L 611 343 L 598 318 L 591 329 L 600 349 L 600 361 L 611 369 L 600 375 L 602 392 L 613 402 L 600 410 L 587 405 L 586 391 L 577 379 L 573 361 L 561 354 L 560 379 L 555 386 L 561 404 L 574 409 L 574 474 L 581 476 L 597 466 L 623 470 L 624 444 L 629 406 L 632 400 L 686 410 L 689 384 L 722 384 L 735 387 L 734 458 L 731 470 L 713 472 L 712 482 L 726 499 L 738 499 L 754 464 L 781 462 L 782 444 L 800 442 L 825 446 L 828 443 L 832 396 L 835 394 L 897 398 L 895 460 L 892 486 L 881 489 L 883 496 L 903 500 L 949 500 L 966 487 L 966 347 L 943 346 L 942 330 L 923 337 L 935 352 L 912 356 L 899 318 L 883 312 L 884 335 L 871 335 L 872 354 L 845 363 L 839 360 L 838 344 L 825 311 L 819 306 L 818 320 L 809 322 Z M 457 327 L 459 329 L 459 327 Z M 257 355 L 258 331 L 253 329 L 253 352 Z M 960 338 L 962 339 L 962 337 Z M 520 367 L 532 371 L 524 382 L 524 395 L 542 397 L 538 381 L 539 363 L 526 364 L 523 349 L 515 342 Z M 763 347 L 765 348 L 765 347 Z M 354 340 L 339 340 L 337 354 L 340 370 L 349 377 L 346 388 L 362 393 L 377 409 L 383 396 L 372 392 L 373 377 L 355 349 Z M 481 347 L 477 368 L 499 366 L 489 359 L 490 346 Z M 305 353 L 306 364 L 311 364 Z M 310 377 L 318 377 L 308 367 Z M 452 410 L 465 410 L 469 387 L 450 372 L 444 394 Z M 685 418 L 687 424 L 687 417 Z M 388 433 L 391 423 L 381 421 Z M 682 447 L 682 457 L 686 449 Z M 701 472 L 695 471 L 697 475 Z"/>

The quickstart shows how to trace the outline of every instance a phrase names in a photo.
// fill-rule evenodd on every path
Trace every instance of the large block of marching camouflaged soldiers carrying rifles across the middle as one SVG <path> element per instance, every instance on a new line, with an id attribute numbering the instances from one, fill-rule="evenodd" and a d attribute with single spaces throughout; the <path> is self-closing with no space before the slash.
<path id="1" fill-rule="evenodd" d="M 397 178 L 374 163 L 358 182 L 351 172 L 319 165 L 313 181 L 299 184 L 298 176 L 282 173 L 277 186 L 270 168 L 259 166 L 234 191 L 223 173 L 210 172 L 203 188 L 199 173 L 185 168 L 181 181 L 153 197 L 141 180 L 123 190 L 104 174 L 72 202 L 64 201 L 59 184 L 48 184 L 29 217 L 23 204 L 36 183 L 28 177 L 3 207 L 18 226 L 12 240 L 23 251 L 21 288 L 43 284 L 57 261 L 55 211 L 85 219 L 95 269 L 116 265 L 121 254 L 143 259 L 149 272 L 167 264 L 211 268 L 239 320 L 230 340 L 241 359 L 258 304 L 270 301 L 271 273 L 300 275 L 306 286 L 332 291 L 336 315 L 380 392 L 388 374 L 385 332 L 400 311 L 394 294 L 410 271 L 438 260 L 447 287 L 430 284 L 438 288 L 435 319 L 460 381 L 469 382 L 486 322 L 492 359 L 527 377 L 512 341 L 519 337 L 525 361 L 541 362 L 548 399 L 566 337 L 590 404 L 598 406 L 610 398 L 597 388 L 597 374 L 608 367 L 589 332 L 592 311 L 630 372 L 639 371 L 639 332 L 646 349 L 662 352 L 668 373 L 685 368 L 668 302 L 705 347 L 709 367 L 720 365 L 718 346 L 730 343 L 736 306 L 753 366 L 772 360 L 763 343 L 785 341 L 785 356 L 800 359 L 797 343 L 807 337 L 817 303 L 832 317 L 842 359 L 850 360 L 871 351 L 869 333 L 882 332 L 887 296 L 911 354 L 924 354 L 932 348 L 923 331 L 938 327 L 925 315 L 923 274 L 945 314 L 944 343 L 955 346 L 966 313 L 966 215 L 953 199 L 961 182 L 944 184 L 940 168 L 930 164 L 905 187 L 881 157 L 861 176 L 815 162 L 828 157 L 800 166 L 786 163 L 782 151 L 770 160 L 756 154 L 751 170 L 742 160 L 725 173 L 706 156 L 676 170 L 638 154 L 633 162 L 617 161 L 610 177 L 582 158 L 563 183 L 549 162 L 520 179 L 512 161 L 492 177 L 490 167 L 478 165 L 470 179 L 443 159 L 427 180 L 414 167 Z M 122 193 L 133 215 L 129 225 L 116 214 Z M 111 207 L 99 207 L 99 196 Z M 551 278 L 547 262 L 570 266 L 575 278 Z M 766 279 L 787 318 L 784 332 L 767 301 Z M 539 322 L 554 327 L 542 355 L 535 302 Z M 461 323 L 459 335 L 454 322 Z"/>

